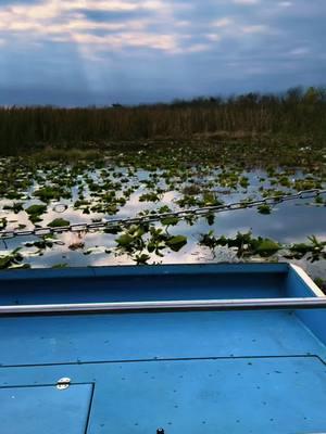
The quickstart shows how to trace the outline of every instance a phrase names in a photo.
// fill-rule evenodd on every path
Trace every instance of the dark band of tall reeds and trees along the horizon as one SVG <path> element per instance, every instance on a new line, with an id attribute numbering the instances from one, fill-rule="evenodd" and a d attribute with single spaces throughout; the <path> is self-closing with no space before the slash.
<path id="1" fill-rule="evenodd" d="M 187 139 L 196 135 L 287 135 L 326 143 L 326 89 L 247 93 L 170 104 L 63 108 L 0 107 L 0 153 L 40 146 L 104 145 L 120 140 Z"/>

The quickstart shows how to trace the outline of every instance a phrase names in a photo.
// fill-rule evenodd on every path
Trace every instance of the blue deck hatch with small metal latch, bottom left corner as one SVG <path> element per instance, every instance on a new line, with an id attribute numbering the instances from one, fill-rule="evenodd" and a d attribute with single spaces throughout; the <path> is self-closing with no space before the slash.
<path id="1" fill-rule="evenodd" d="M 91 395 L 92 384 L 0 387 L 1 432 L 84 434 Z"/>

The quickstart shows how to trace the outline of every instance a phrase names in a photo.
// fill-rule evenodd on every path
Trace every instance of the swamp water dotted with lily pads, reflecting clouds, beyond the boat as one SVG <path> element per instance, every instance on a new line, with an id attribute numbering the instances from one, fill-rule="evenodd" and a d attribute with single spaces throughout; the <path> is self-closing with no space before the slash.
<path id="1" fill-rule="evenodd" d="M 325 180 L 316 175 L 288 169 L 246 171 L 196 165 L 142 169 L 110 161 L 76 166 L 12 164 L 1 161 L 0 221 L 5 230 L 133 217 L 325 188 Z M 325 280 L 325 205 L 324 195 L 187 221 L 167 219 L 145 228 L 121 228 L 115 233 L 80 231 L 0 240 L 0 264 L 4 269 L 289 260 L 313 278 Z M 314 239 L 308 240 L 309 235 Z M 260 240 L 253 243 L 255 248 L 251 248 L 252 239 Z"/>

